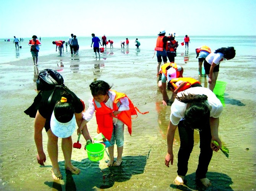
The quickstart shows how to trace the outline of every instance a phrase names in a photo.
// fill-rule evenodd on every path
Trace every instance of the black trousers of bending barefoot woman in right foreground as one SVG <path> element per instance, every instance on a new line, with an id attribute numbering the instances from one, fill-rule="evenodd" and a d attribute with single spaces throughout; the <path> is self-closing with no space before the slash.
<path id="1" fill-rule="evenodd" d="M 194 146 L 194 130 L 190 127 L 185 127 L 184 120 L 178 124 L 178 131 L 180 135 L 180 149 L 178 152 L 178 170 L 177 173 L 180 176 L 185 176 L 188 172 L 188 159 Z M 206 178 L 208 165 L 212 159 L 211 149 L 211 128 L 210 124 L 207 124 L 205 128 L 199 132 L 200 136 L 200 155 L 198 161 L 198 167 L 196 170 L 196 177 Z"/>

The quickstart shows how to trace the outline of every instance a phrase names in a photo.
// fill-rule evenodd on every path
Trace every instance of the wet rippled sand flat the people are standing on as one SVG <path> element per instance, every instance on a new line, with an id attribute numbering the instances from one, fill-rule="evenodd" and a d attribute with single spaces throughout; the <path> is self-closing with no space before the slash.
<path id="1" fill-rule="evenodd" d="M 1 190 L 252 190 L 256 188 L 256 141 L 255 141 L 255 57 L 237 55 L 221 63 L 218 80 L 227 82 L 225 105 L 220 117 L 219 136 L 230 151 L 227 159 L 221 151 L 213 154 L 207 177 L 210 188 L 197 184 L 195 171 L 199 156 L 199 134 L 195 132 L 194 150 L 191 153 L 185 186 L 175 186 L 177 176 L 178 132 L 174 141 L 174 162 L 170 168 L 164 164 L 166 130 L 170 106 L 162 106 L 157 90 L 156 56 L 154 51 L 130 48 L 114 49 L 94 58 L 92 50 L 80 51 L 79 56 L 69 53 L 58 57 L 57 53 L 40 56 L 39 66 L 32 66 L 32 58 L 0 65 L 0 189 Z M 195 53 L 179 54 L 175 61 L 184 68 L 184 76 L 198 79 L 198 61 Z M 105 59 L 104 59 L 105 58 Z M 234 67 L 234 65 L 236 67 Z M 58 70 L 65 85 L 85 101 L 91 98 L 89 84 L 93 80 L 105 80 L 113 84 L 113 90 L 126 93 L 140 111 L 133 120 L 132 136 L 125 131 L 123 163 L 120 167 L 107 167 L 108 156 L 99 162 L 89 161 L 83 147 L 73 149 L 73 164 L 81 169 L 80 175 L 71 175 L 64 169 L 64 159 L 59 147 L 59 164 L 63 180 L 53 181 L 51 162 L 47 153 L 47 135 L 43 131 L 45 166 L 37 164 L 34 143 L 33 118 L 24 114 L 36 96 L 36 78 L 45 68 Z M 241 75 L 241 70 L 243 75 Z M 207 80 L 201 79 L 207 86 Z M 169 96 L 171 92 L 168 92 Z M 95 117 L 89 122 L 89 132 L 96 135 Z M 77 135 L 74 133 L 73 142 Z M 60 145 L 61 141 L 59 141 Z M 115 156 L 116 148 L 115 148 Z"/>

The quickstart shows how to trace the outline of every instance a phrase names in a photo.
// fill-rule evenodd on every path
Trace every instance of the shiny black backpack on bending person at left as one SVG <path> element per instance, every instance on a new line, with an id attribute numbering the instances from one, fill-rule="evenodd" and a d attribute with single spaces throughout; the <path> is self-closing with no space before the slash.
<path id="1" fill-rule="evenodd" d="M 37 90 L 52 90 L 56 85 L 64 86 L 64 79 L 59 72 L 52 69 L 42 70 L 36 80 Z"/>

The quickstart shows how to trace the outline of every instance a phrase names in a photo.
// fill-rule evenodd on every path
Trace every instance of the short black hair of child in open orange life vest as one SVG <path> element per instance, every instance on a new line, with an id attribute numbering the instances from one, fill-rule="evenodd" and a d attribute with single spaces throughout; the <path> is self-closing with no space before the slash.
<path id="1" fill-rule="evenodd" d="M 112 87 L 113 85 L 110 86 L 107 82 L 104 82 L 102 80 L 97 80 L 90 84 L 92 96 L 107 95 L 108 91 Z"/>

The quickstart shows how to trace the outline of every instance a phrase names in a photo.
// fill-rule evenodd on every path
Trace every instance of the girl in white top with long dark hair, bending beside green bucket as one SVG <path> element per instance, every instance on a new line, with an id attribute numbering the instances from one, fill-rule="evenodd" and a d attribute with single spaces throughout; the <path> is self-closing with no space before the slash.
<path id="1" fill-rule="evenodd" d="M 219 64 L 221 61 L 227 59 L 230 60 L 235 57 L 235 49 L 234 47 L 223 47 L 215 50 L 210 53 L 204 61 L 204 70 L 208 75 L 209 80 L 209 89 L 213 91 L 216 80 L 219 74 Z"/>

